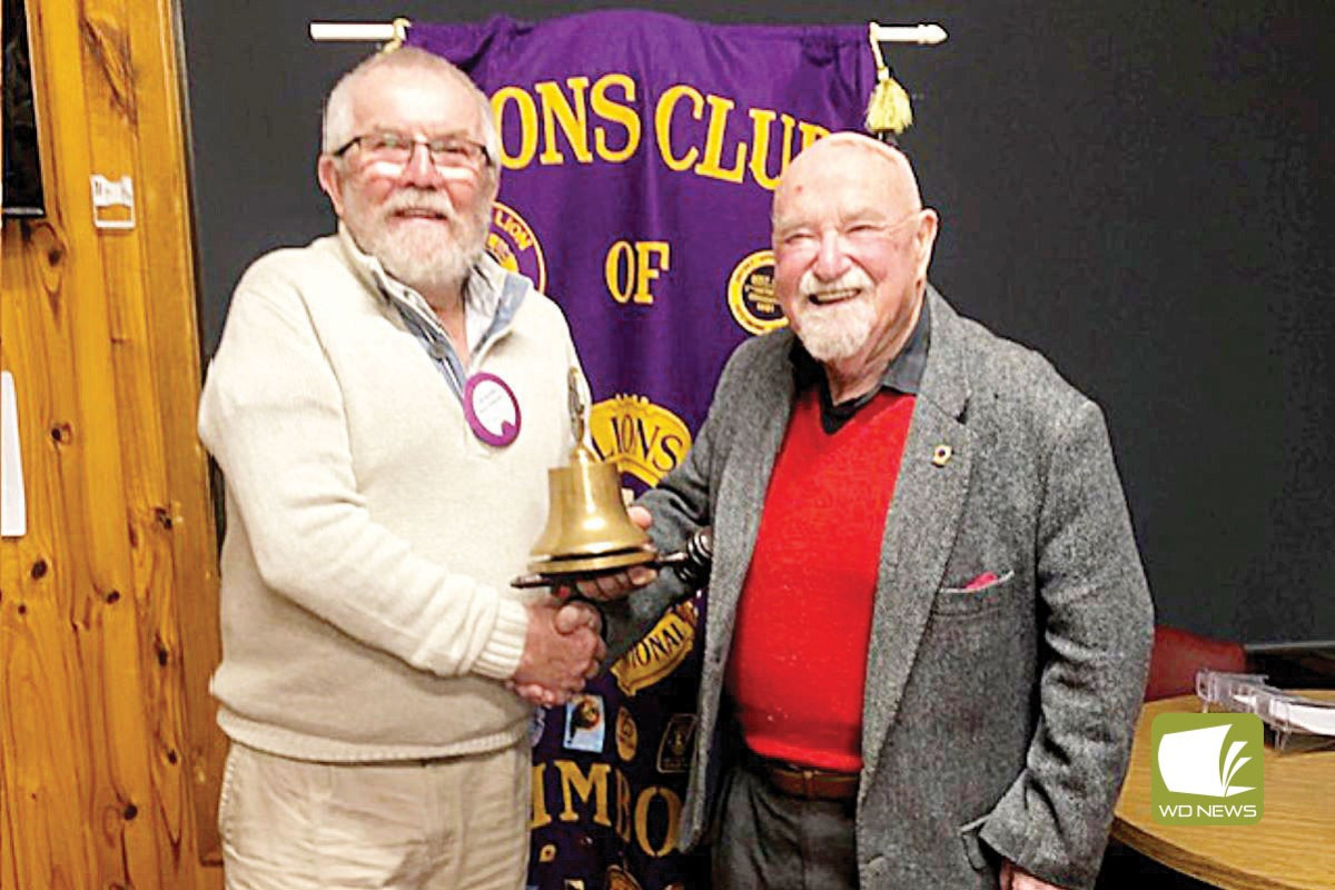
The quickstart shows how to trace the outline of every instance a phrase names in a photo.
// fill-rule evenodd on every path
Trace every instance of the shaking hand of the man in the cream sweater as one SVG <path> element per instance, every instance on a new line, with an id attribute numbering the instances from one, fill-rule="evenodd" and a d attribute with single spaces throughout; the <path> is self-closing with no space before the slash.
<path id="1" fill-rule="evenodd" d="M 529 634 L 511 685 L 522 698 L 563 705 L 598 673 L 607 647 L 601 618 L 589 603 L 547 598 L 529 604 Z"/>

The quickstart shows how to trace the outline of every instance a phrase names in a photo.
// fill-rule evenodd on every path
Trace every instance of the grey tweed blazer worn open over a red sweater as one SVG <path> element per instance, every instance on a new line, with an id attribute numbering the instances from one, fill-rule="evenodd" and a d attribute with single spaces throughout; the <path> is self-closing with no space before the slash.
<path id="1" fill-rule="evenodd" d="M 930 347 L 866 663 L 861 886 L 995 887 L 1005 857 L 1088 887 L 1152 636 L 1103 414 L 1036 352 L 960 318 L 932 288 L 926 299 Z M 794 396 L 790 347 L 782 331 L 733 354 L 686 459 L 642 498 L 659 548 L 714 527 L 684 847 L 706 837 L 738 745 L 725 663 Z M 813 534 L 838 546 L 838 528 Z M 997 580 L 965 590 L 984 572 Z M 688 592 L 663 572 L 605 610 L 613 656 Z"/>

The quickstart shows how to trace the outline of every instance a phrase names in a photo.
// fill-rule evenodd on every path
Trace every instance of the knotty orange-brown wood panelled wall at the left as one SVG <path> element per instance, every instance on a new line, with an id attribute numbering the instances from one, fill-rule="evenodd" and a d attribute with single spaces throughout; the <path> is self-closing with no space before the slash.
<path id="1" fill-rule="evenodd" d="M 28 499 L 0 542 L 0 885 L 208 890 L 224 741 L 176 9 L 27 3 L 48 215 L 0 246 Z M 132 230 L 95 228 L 93 173 L 132 177 Z"/>

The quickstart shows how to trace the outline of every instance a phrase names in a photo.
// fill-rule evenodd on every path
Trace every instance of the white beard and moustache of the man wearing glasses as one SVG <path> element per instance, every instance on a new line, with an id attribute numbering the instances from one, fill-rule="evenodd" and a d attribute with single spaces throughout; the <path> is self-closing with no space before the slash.
<path id="1" fill-rule="evenodd" d="M 354 201 L 350 211 L 360 211 Z M 449 221 L 387 224 L 396 211 L 418 207 L 441 213 Z M 366 217 L 362 213 L 363 219 Z M 427 189 L 406 188 L 375 211 L 358 235 L 359 247 L 380 260 L 384 271 L 419 291 L 458 287 L 486 247 L 490 207 L 486 203 L 471 216 L 457 212 L 449 199 Z"/>

